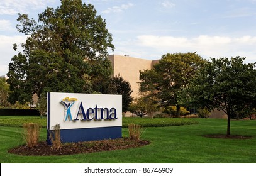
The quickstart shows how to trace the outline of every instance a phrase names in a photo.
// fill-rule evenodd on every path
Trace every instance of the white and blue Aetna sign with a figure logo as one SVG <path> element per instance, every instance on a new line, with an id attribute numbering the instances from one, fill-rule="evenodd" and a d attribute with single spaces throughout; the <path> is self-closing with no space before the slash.
<path id="1" fill-rule="evenodd" d="M 63 142 L 121 138 L 121 104 L 121 95 L 50 92 L 47 136 L 55 124 L 60 124 Z"/>

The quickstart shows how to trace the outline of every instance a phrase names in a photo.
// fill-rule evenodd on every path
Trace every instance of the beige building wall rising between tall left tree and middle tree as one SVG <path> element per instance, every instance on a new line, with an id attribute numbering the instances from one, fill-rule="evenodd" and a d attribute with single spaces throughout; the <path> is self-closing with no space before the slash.
<path id="1" fill-rule="evenodd" d="M 152 66 L 157 63 L 157 60 L 146 60 L 127 55 L 109 55 L 108 59 L 112 63 L 114 76 L 120 74 L 124 80 L 130 83 L 133 90 L 132 97 L 139 96 L 140 70 L 152 69 Z"/>

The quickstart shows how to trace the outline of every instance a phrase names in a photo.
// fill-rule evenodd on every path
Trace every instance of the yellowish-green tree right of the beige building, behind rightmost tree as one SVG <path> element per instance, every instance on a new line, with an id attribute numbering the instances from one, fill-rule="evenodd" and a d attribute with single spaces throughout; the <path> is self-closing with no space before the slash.
<path id="1" fill-rule="evenodd" d="M 189 83 L 203 63 L 204 60 L 196 52 L 162 55 L 152 70 L 140 72 L 140 91 L 155 90 L 162 106 L 175 105 L 176 116 L 179 117 L 181 104 L 177 101 L 177 94 Z"/>

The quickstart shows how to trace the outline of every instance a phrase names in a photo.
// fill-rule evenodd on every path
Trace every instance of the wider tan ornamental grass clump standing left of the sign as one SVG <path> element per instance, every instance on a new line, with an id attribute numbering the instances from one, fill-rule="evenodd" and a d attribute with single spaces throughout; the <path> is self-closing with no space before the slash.
<path id="1" fill-rule="evenodd" d="M 23 124 L 25 132 L 26 146 L 33 147 L 38 144 L 40 136 L 40 125 L 37 123 L 25 123 Z"/>

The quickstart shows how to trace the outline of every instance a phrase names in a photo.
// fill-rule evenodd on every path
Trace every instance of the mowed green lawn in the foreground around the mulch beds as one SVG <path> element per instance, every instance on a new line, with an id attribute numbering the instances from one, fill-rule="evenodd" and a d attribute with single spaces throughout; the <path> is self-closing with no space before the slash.
<path id="1" fill-rule="evenodd" d="M 159 119 L 162 121 L 167 120 L 167 118 Z M 23 128 L 0 126 L 0 162 L 256 163 L 256 121 L 231 121 L 231 134 L 252 136 L 251 139 L 247 140 L 206 138 L 204 135 L 225 134 L 226 120 L 196 119 L 196 121 L 199 121 L 199 123 L 194 125 L 146 127 L 142 139 L 149 140 L 151 143 L 140 148 L 39 157 L 9 154 L 8 150 L 10 148 L 24 144 L 22 138 Z M 128 136 L 127 128 L 123 128 L 123 136 Z M 40 140 L 44 141 L 46 137 L 46 129 L 42 128 Z"/>

